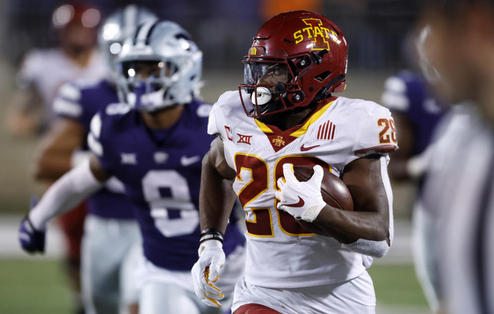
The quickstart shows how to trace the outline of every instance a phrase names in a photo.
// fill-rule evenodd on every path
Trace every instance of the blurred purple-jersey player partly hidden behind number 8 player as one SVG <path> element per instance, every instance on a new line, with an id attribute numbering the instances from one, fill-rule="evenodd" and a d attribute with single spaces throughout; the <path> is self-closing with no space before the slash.
<path id="1" fill-rule="evenodd" d="M 142 23 L 157 17 L 145 8 L 129 5 L 105 18 L 98 45 L 110 70 L 103 80 L 79 80 L 60 88 L 54 101 L 55 121 L 39 152 L 37 178 L 55 181 L 89 158 L 86 139 L 91 118 L 118 103 L 115 57 L 123 40 Z M 116 178 L 87 201 L 82 240 L 81 282 L 86 313 L 118 313 L 119 307 L 137 312 L 134 273 L 139 256 L 140 234 L 125 189 Z"/>

